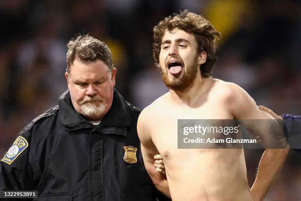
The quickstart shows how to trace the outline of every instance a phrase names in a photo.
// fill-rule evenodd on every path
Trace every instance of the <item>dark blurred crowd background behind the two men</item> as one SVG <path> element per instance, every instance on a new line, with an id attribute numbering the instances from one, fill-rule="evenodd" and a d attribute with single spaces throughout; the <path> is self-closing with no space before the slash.
<path id="1" fill-rule="evenodd" d="M 153 65 L 152 28 L 189 9 L 222 33 L 214 78 L 244 88 L 277 114 L 301 114 L 300 0 L 0 0 L 0 155 L 67 89 L 66 43 L 108 44 L 117 89 L 143 109 L 168 90 Z M 245 150 L 252 185 L 263 150 Z M 267 201 L 301 201 L 301 153 L 290 155 Z"/>

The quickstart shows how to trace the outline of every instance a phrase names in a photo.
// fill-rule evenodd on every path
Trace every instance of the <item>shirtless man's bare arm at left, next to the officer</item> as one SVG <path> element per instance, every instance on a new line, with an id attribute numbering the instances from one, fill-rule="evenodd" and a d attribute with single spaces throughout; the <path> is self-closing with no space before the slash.
<path id="1" fill-rule="evenodd" d="M 148 122 L 146 121 L 147 119 L 147 114 L 144 110 L 141 112 L 137 124 L 137 131 L 141 141 L 141 152 L 144 165 L 155 187 L 165 196 L 171 198 L 166 175 L 159 173 L 154 167 L 153 157 L 159 152 L 152 142 L 151 134 L 147 124 Z"/>

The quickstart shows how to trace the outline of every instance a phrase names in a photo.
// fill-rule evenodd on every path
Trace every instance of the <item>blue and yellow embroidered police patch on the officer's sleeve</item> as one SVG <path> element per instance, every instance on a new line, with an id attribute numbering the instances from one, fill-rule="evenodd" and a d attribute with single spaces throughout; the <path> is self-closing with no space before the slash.
<path id="1" fill-rule="evenodd" d="M 8 149 L 1 161 L 10 165 L 28 147 L 28 142 L 24 137 L 17 137 L 13 145 Z"/>

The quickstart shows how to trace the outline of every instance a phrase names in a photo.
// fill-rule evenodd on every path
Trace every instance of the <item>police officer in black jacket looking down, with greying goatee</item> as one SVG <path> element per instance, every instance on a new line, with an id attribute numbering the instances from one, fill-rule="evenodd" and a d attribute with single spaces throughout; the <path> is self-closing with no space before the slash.
<path id="1" fill-rule="evenodd" d="M 89 35 L 67 48 L 68 90 L 15 138 L 0 162 L 0 190 L 37 190 L 39 201 L 155 200 L 140 110 L 114 88 L 111 51 Z"/>

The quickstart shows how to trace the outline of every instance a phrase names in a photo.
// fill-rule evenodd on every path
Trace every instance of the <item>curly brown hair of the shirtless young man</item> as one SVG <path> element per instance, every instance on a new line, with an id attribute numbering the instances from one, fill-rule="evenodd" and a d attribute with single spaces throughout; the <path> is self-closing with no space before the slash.
<path id="1" fill-rule="evenodd" d="M 152 56 L 155 64 L 159 64 L 161 42 L 165 32 L 170 32 L 176 28 L 195 36 L 198 43 L 197 51 L 199 53 L 202 51 L 207 53 L 206 62 L 201 65 L 200 68 L 202 77 L 212 77 L 213 65 L 217 61 L 215 51 L 221 34 L 217 32 L 211 23 L 203 16 L 189 12 L 188 10 L 183 10 L 179 14 L 173 14 L 166 17 L 153 28 L 154 43 L 152 47 Z"/>

